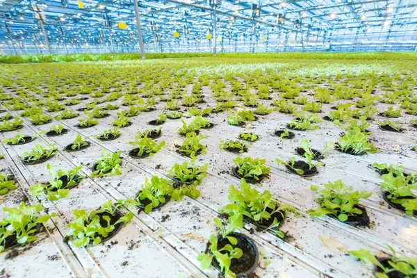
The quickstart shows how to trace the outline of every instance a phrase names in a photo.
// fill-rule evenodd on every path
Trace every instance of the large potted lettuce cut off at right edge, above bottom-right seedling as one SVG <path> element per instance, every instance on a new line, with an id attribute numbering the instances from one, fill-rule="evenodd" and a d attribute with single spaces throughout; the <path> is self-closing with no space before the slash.
<path id="1" fill-rule="evenodd" d="M 417 215 L 417 197 L 412 190 L 417 189 L 416 172 L 405 176 L 402 172 L 383 174 L 381 187 L 383 197 L 391 206 L 405 211 L 407 214 Z"/>

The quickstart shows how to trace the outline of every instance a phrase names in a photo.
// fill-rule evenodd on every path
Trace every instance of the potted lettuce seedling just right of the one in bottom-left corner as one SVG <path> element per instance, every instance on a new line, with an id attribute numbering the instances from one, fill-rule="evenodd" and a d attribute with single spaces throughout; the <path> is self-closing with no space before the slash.
<path id="1" fill-rule="evenodd" d="M 104 240 L 114 236 L 122 225 L 130 222 L 133 213 L 129 211 L 122 215 L 113 206 L 111 200 L 105 202 L 97 210 L 85 212 L 85 210 L 74 210 L 74 222 L 68 224 L 67 238 L 72 240 L 75 247 L 98 245 Z"/>

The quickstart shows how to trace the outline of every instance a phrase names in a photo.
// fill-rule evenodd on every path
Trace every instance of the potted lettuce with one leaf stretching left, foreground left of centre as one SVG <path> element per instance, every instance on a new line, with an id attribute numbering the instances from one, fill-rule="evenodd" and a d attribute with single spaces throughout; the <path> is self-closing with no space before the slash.
<path id="1" fill-rule="evenodd" d="M 168 184 L 166 179 L 153 176 L 151 181 L 145 179 L 136 199 L 119 200 L 119 204 L 127 206 L 129 209 L 138 206 L 143 208 L 145 213 L 150 213 L 155 208 L 166 204 L 171 199 L 173 192 L 174 188 Z"/>

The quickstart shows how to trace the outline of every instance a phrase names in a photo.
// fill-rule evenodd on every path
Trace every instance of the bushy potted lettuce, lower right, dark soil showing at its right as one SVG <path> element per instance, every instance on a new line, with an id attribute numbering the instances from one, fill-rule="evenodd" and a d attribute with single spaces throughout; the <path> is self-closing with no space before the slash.
<path id="1" fill-rule="evenodd" d="M 346 187 L 340 179 L 324 184 L 324 188 L 311 186 L 311 190 L 318 191 L 320 206 L 316 209 L 307 211 L 310 216 L 329 215 L 347 224 L 366 226 L 369 218 L 365 208 L 359 206 L 361 199 L 369 198 L 372 193 L 353 191 L 352 187 Z"/>

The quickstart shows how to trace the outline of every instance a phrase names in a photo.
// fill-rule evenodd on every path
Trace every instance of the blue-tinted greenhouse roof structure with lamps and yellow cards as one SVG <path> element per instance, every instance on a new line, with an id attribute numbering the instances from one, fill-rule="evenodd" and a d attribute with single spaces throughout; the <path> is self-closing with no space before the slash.
<path id="1" fill-rule="evenodd" d="M 217 1 L 138 0 L 145 51 L 417 50 L 417 0 Z M 0 0 L 0 23 L 0 54 L 140 49 L 134 0 Z"/>

